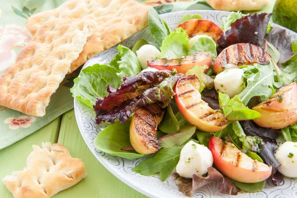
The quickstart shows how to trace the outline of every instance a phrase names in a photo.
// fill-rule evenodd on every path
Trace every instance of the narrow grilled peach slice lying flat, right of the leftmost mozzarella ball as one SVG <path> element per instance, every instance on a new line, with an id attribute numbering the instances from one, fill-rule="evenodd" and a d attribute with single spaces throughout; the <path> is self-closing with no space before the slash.
<path id="1" fill-rule="evenodd" d="M 158 70 L 172 70 L 176 69 L 178 73 L 186 74 L 189 69 L 193 69 L 196 65 L 207 65 L 208 67 L 204 70 L 207 72 L 211 65 L 211 56 L 207 52 L 199 51 L 194 55 L 189 55 L 184 58 L 166 59 L 158 58 L 152 61 L 148 61 L 148 67 L 153 67 Z"/>

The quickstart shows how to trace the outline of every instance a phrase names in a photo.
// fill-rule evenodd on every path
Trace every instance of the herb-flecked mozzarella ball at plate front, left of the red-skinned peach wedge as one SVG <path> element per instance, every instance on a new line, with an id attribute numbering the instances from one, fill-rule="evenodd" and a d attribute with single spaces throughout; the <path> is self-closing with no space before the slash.
<path id="1" fill-rule="evenodd" d="M 176 172 L 182 177 L 192 175 L 204 175 L 207 168 L 211 167 L 213 158 L 211 151 L 194 141 L 188 142 L 181 150 L 180 160 L 176 166 Z"/>

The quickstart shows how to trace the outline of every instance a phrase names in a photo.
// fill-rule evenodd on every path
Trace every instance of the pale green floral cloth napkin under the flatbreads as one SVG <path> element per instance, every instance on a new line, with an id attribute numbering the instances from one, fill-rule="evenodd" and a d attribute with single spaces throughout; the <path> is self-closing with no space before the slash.
<path id="1" fill-rule="evenodd" d="M 35 13 L 55 8 L 66 0 L 9 0 L 0 4 L 0 74 L 14 63 L 17 53 L 31 40 L 26 20 Z M 211 9 L 204 0 L 138 0 L 155 6 L 159 14 L 186 9 Z M 176 2 L 179 1 L 179 2 Z M 188 1 L 188 2 L 185 2 Z M 166 4 L 163 4 L 166 3 Z M 80 69 L 67 75 L 50 99 L 44 117 L 29 116 L 0 106 L 0 149 L 41 129 L 53 119 L 73 108 L 69 89 Z"/>

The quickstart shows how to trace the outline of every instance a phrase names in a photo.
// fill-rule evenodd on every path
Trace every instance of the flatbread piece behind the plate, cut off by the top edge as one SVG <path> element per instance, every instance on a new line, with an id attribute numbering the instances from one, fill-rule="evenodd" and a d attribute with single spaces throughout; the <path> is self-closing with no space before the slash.
<path id="1" fill-rule="evenodd" d="M 269 4 L 269 0 L 206 0 L 216 10 L 260 10 Z"/>

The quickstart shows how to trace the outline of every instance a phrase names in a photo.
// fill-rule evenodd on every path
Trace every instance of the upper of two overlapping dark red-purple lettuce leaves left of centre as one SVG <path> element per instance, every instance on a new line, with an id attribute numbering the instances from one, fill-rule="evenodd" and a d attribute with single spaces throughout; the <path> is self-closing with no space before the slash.
<path id="1" fill-rule="evenodd" d="M 97 98 L 94 110 L 97 110 L 99 115 L 110 111 L 113 107 L 121 105 L 123 101 L 142 95 L 148 88 L 158 85 L 174 74 L 169 70 L 147 71 L 123 78 L 124 83 L 118 89 L 107 86 L 108 96 Z"/>

